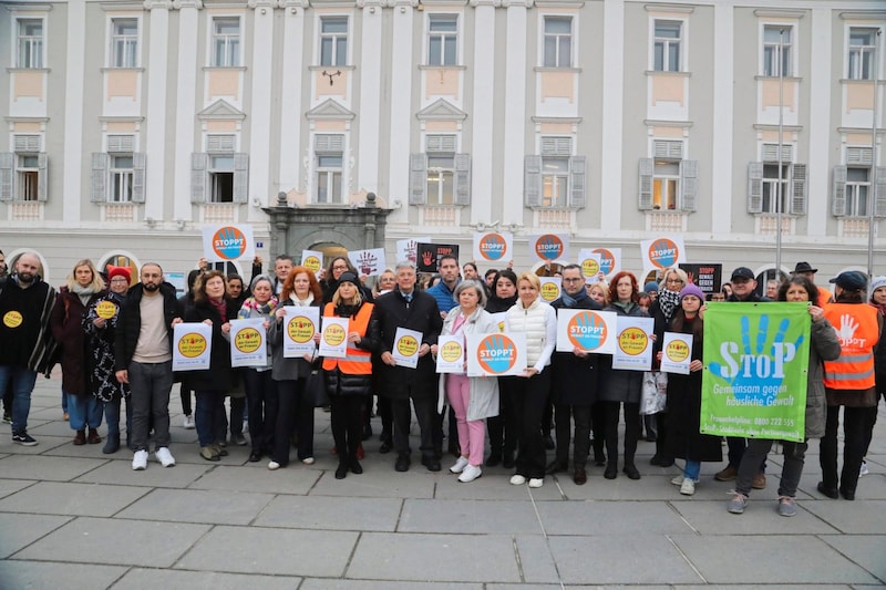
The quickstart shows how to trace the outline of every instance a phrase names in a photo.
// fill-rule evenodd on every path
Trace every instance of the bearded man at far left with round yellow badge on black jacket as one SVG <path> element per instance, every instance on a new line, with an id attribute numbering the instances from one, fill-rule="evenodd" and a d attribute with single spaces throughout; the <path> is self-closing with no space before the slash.
<path id="1" fill-rule="evenodd" d="M 55 349 L 49 330 L 55 289 L 43 282 L 39 268 L 40 258 L 24 252 L 0 291 L 0 397 L 12 387 L 12 442 L 24 446 L 37 445 L 28 434 L 31 392 Z"/>

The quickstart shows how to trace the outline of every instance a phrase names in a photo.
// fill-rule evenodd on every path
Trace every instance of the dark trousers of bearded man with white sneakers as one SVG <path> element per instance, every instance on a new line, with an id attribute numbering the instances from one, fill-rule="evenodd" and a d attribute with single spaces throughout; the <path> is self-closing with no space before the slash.
<path id="1" fill-rule="evenodd" d="M 148 451 L 147 433 L 153 418 L 154 444 L 169 446 L 169 391 L 173 389 L 173 362 L 130 363 L 132 403 L 132 445 Z M 127 408 L 128 410 L 128 408 Z"/>

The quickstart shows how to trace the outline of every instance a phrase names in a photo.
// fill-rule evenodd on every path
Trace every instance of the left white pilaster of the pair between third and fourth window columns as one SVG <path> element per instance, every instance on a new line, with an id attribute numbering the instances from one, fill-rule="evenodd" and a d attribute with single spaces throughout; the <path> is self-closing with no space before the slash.
<path id="1" fill-rule="evenodd" d="M 250 101 L 253 103 L 249 123 L 249 198 L 246 207 L 250 221 L 265 219 L 261 209 L 253 207 L 259 199 L 262 207 L 268 201 L 276 204 L 277 185 L 270 182 L 270 110 L 272 87 L 271 66 L 274 64 L 274 7 L 276 1 L 258 0 L 249 2 L 253 12 L 253 59 L 249 70 L 253 74 Z"/>

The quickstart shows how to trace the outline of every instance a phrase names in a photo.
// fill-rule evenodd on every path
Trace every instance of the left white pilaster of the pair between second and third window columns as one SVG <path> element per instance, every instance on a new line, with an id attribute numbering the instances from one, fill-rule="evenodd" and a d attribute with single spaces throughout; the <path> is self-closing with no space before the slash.
<path id="1" fill-rule="evenodd" d="M 147 40 L 145 132 L 142 152 L 147 154 L 145 218 L 164 219 L 166 208 L 166 92 L 169 59 L 169 4 L 146 2 L 151 34 Z M 173 198 L 175 198 L 173 196 Z"/>

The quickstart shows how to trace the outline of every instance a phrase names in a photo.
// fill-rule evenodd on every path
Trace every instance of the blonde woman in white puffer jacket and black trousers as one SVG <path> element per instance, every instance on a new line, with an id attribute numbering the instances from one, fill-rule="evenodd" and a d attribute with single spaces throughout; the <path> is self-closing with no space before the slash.
<path id="1" fill-rule="evenodd" d="M 511 484 L 529 487 L 545 484 L 547 455 L 542 435 L 542 418 L 550 390 L 550 355 L 557 344 L 557 314 L 554 308 L 538 298 L 542 281 L 533 272 L 517 279 L 517 303 L 507 310 L 506 332 L 526 333 L 526 369 L 518 376 L 501 377 L 502 387 L 513 404 L 513 426 L 517 433 L 517 473 Z"/>

